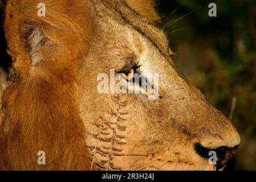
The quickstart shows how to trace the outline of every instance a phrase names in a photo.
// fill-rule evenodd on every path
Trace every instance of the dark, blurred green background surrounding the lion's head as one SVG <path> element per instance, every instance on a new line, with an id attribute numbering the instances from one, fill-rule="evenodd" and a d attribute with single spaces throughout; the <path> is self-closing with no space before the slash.
<path id="1" fill-rule="evenodd" d="M 208 16 L 211 2 L 217 17 Z M 178 68 L 241 135 L 241 146 L 225 169 L 256 170 L 256 1 L 158 0 L 157 10 L 178 53 Z M 0 60 L 1 67 L 10 67 L 2 24 Z"/>

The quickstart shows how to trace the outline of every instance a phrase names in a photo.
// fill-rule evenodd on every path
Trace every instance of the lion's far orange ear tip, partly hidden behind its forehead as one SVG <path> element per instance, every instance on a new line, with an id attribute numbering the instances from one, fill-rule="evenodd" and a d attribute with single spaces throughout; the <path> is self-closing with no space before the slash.
<path id="1" fill-rule="evenodd" d="M 160 17 L 155 10 L 155 1 L 153 0 L 125 0 L 127 4 L 136 11 L 136 13 L 144 16 L 149 22 L 159 22 Z"/>

